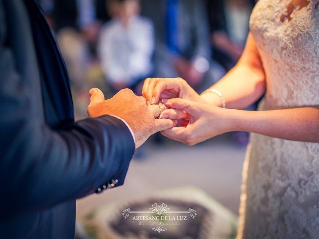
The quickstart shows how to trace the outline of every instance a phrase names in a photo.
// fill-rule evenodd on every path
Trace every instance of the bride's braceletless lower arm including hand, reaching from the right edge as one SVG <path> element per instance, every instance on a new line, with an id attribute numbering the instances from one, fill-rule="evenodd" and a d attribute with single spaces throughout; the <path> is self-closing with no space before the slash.
<path id="1" fill-rule="evenodd" d="M 186 111 L 190 120 L 187 126 L 162 132 L 172 139 L 193 145 L 230 131 L 247 131 L 270 137 L 294 141 L 319 143 L 319 107 L 301 107 L 269 111 L 243 111 L 223 109 L 180 98 L 165 102 L 168 107 Z M 163 114 L 169 119 L 183 118 L 173 114 L 174 109 Z"/>

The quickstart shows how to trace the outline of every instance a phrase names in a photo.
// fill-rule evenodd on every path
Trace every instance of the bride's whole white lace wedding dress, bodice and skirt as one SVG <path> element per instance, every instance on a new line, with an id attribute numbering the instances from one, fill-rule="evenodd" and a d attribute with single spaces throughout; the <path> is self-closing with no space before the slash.
<path id="1" fill-rule="evenodd" d="M 260 0 L 250 28 L 267 78 L 259 109 L 318 106 L 319 0 Z M 318 143 L 252 134 L 242 191 L 238 239 L 319 239 Z"/>

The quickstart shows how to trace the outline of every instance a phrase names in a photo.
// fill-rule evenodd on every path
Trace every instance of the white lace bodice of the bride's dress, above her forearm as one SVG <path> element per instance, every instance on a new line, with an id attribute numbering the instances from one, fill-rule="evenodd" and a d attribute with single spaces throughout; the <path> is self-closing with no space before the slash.
<path id="1" fill-rule="evenodd" d="M 319 104 L 319 1 L 310 1 L 290 21 L 281 22 L 290 2 L 261 0 L 251 16 L 267 75 L 267 108 Z"/>

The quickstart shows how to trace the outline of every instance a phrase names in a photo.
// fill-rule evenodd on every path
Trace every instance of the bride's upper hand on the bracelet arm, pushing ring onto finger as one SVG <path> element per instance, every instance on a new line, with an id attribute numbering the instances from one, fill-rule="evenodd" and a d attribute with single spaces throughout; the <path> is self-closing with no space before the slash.
<path id="1" fill-rule="evenodd" d="M 147 78 L 144 81 L 142 95 L 148 105 L 156 104 L 161 99 L 182 98 L 204 102 L 199 94 L 182 78 Z"/>

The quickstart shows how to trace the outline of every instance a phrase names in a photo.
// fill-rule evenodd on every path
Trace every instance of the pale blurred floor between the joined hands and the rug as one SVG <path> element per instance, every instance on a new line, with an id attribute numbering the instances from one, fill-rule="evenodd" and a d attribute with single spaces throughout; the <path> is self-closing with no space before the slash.
<path id="1" fill-rule="evenodd" d="M 125 184 L 78 200 L 77 217 L 108 202 L 188 185 L 203 189 L 238 214 L 244 155 L 245 147 L 227 134 L 192 147 L 169 139 L 162 144 L 149 140 L 144 146 L 144 159 L 132 160 Z"/>

